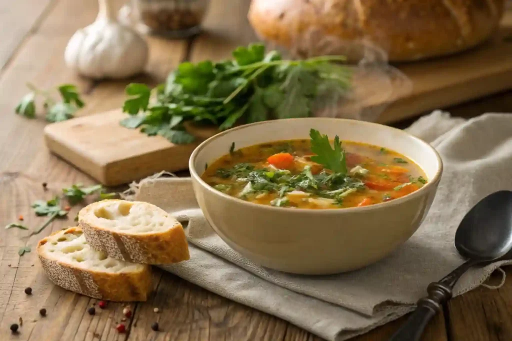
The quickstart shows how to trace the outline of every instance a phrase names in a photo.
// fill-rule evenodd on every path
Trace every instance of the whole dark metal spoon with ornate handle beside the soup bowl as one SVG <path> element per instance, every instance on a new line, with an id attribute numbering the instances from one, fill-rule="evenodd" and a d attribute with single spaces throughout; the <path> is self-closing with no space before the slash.
<path id="1" fill-rule="evenodd" d="M 455 247 L 468 260 L 439 282 L 429 284 L 428 297 L 418 306 L 390 341 L 418 341 L 442 304 L 452 298 L 452 289 L 470 267 L 507 259 L 512 249 L 512 192 L 499 191 L 480 200 L 468 212 L 455 233 Z"/>

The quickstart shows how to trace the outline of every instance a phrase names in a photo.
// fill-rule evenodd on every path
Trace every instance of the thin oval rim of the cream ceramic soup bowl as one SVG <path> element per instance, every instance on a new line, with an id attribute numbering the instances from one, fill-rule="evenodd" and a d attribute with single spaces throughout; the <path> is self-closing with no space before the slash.
<path id="1" fill-rule="evenodd" d="M 305 121 L 305 120 L 315 120 L 315 121 L 322 120 L 322 121 L 336 121 L 336 122 L 344 121 L 344 122 L 352 122 L 352 123 L 356 122 L 357 124 L 379 126 L 381 129 L 388 129 L 388 130 L 392 130 L 392 131 L 398 132 L 400 134 L 406 135 L 409 138 L 412 138 L 417 143 L 427 147 L 432 152 L 434 152 L 434 155 L 437 158 L 437 162 L 438 162 L 439 166 L 438 166 L 438 168 L 436 170 L 436 173 L 432 177 L 432 180 L 429 179 L 429 182 L 425 186 L 421 187 L 417 191 L 414 191 L 412 193 L 404 195 L 404 196 L 402 196 L 402 197 L 400 197 L 398 199 L 394 199 L 394 200 L 390 200 L 390 201 L 386 201 L 386 202 L 379 202 L 379 203 L 376 203 L 376 204 L 373 204 L 373 205 L 370 205 L 370 206 L 364 206 L 364 207 L 348 207 L 348 208 L 339 208 L 339 209 L 336 208 L 336 209 L 319 209 L 319 210 L 298 209 L 298 208 L 289 209 L 289 208 L 284 208 L 284 207 L 274 207 L 274 206 L 269 206 L 269 205 L 263 205 L 263 204 L 260 204 L 260 203 L 254 203 L 254 202 L 250 202 L 250 201 L 245 201 L 245 200 L 242 200 L 242 199 L 239 199 L 237 197 L 233 197 L 233 196 L 227 195 L 227 194 L 225 194 L 225 193 L 223 193 L 221 191 L 216 190 L 212 186 L 208 185 L 206 183 L 206 181 L 204 181 L 201 178 L 201 176 L 199 176 L 199 174 L 196 171 L 194 163 L 195 163 L 197 155 L 208 144 L 210 144 L 212 141 L 215 141 L 216 139 L 219 139 L 220 137 L 222 137 L 224 135 L 227 135 L 227 134 L 229 134 L 229 133 L 231 133 L 233 131 L 236 131 L 236 130 L 245 129 L 245 128 L 252 127 L 252 126 L 273 124 L 273 123 L 275 123 L 277 121 L 288 121 L 288 122 L 291 122 L 291 121 Z M 275 141 L 279 141 L 279 140 L 275 140 Z M 407 156 L 407 155 L 405 155 L 405 156 Z M 422 168 L 421 165 L 418 165 L 418 166 L 420 168 Z M 412 135 L 412 134 L 410 134 L 407 131 L 404 131 L 402 129 L 390 127 L 390 126 L 379 124 L 379 123 L 367 122 L 367 121 L 342 119 L 342 118 L 328 118 L 328 117 L 314 117 L 314 118 L 313 117 L 308 117 L 308 118 L 279 119 L 279 120 L 261 121 L 261 122 L 255 122 L 255 123 L 250 123 L 250 124 L 244 124 L 244 125 L 240 125 L 240 126 L 237 126 L 237 127 L 230 128 L 228 130 L 224 130 L 224 131 L 222 131 L 222 132 L 220 132 L 218 134 L 215 134 L 214 136 L 204 140 L 199 146 L 197 146 L 194 149 L 194 151 L 190 155 L 190 158 L 188 159 L 188 169 L 190 171 L 190 176 L 192 178 L 194 178 L 196 181 L 198 181 L 198 183 L 203 188 L 205 188 L 207 191 L 209 191 L 211 193 L 214 193 L 215 195 L 219 195 L 219 196 L 221 196 L 221 197 L 223 197 L 223 198 L 225 198 L 225 199 L 227 199 L 229 201 L 232 201 L 233 203 L 239 203 L 239 204 L 243 204 L 243 205 L 248 206 L 248 207 L 253 207 L 255 209 L 261 209 L 261 210 L 279 210 L 279 212 L 301 212 L 301 213 L 306 213 L 307 212 L 309 214 L 334 214 L 334 213 L 339 214 L 339 213 L 366 212 L 366 211 L 370 211 L 370 210 L 378 210 L 378 209 L 382 209 L 382 208 L 386 208 L 386 207 L 392 207 L 392 206 L 398 205 L 398 204 L 400 204 L 402 202 L 405 202 L 405 201 L 411 200 L 413 198 L 419 197 L 419 196 L 423 195 L 424 193 L 426 193 L 427 191 L 429 191 L 431 188 L 434 188 L 435 186 L 437 186 L 437 184 L 439 183 L 439 181 L 441 179 L 441 174 L 443 172 L 443 162 L 442 162 L 441 156 L 439 155 L 437 150 L 434 147 L 432 147 L 432 145 L 430 145 L 428 142 L 425 142 L 422 139 L 420 139 L 418 137 L 415 137 L 414 135 Z"/>

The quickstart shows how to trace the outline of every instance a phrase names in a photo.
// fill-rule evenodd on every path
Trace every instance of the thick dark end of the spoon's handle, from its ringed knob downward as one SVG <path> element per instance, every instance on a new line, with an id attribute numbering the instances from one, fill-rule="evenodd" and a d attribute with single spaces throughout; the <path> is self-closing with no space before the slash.
<path id="1" fill-rule="evenodd" d="M 427 292 L 428 297 L 418 301 L 416 310 L 389 341 L 419 341 L 426 325 L 442 310 L 442 304 L 452 297 L 452 289 L 440 282 L 429 284 Z"/>

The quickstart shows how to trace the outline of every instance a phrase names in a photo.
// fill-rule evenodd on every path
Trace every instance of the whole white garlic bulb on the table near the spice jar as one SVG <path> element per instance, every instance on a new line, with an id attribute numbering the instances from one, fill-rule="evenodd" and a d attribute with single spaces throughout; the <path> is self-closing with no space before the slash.
<path id="1" fill-rule="evenodd" d="M 127 78 L 143 71 L 147 55 L 145 40 L 119 24 L 110 0 L 99 0 L 96 20 L 75 32 L 64 59 L 68 67 L 86 77 Z"/>

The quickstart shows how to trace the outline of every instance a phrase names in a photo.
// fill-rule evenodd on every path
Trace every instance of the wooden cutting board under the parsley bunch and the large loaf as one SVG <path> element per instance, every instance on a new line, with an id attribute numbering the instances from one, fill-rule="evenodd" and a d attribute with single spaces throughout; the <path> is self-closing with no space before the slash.
<path id="1" fill-rule="evenodd" d="M 481 47 L 455 56 L 399 65 L 412 91 L 372 97 L 368 107 L 386 109 L 378 118 L 391 123 L 512 88 L 512 14 L 496 36 Z M 371 84 L 371 80 L 367 80 Z M 138 180 L 156 172 L 184 170 L 197 146 L 173 145 L 119 125 L 120 110 L 50 124 L 48 148 L 106 186 Z M 203 132 L 205 136 L 210 131 Z"/>

